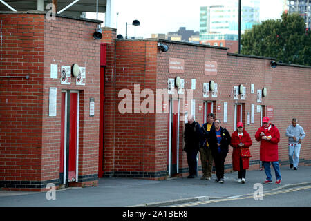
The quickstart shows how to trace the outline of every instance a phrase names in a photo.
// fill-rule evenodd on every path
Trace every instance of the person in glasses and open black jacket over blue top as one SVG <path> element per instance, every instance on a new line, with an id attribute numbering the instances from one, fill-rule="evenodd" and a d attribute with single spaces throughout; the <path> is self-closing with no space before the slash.
<path id="1" fill-rule="evenodd" d="M 215 146 L 211 146 L 211 153 L 215 162 L 216 176 L 217 179 L 215 182 L 224 183 L 223 175 L 225 173 L 225 159 L 227 153 L 229 152 L 229 144 L 231 142 L 231 136 L 226 128 L 221 126 L 220 119 L 215 119 L 215 133 L 214 139 L 217 143 Z"/>

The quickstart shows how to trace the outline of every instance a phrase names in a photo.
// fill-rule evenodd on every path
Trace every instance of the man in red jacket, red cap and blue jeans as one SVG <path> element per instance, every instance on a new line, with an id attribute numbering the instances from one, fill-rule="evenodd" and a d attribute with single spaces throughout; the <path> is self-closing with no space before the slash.
<path id="1" fill-rule="evenodd" d="M 263 117 L 263 126 L 258 128 L 255 134 L 257 141 L 261 142 L 260 147 L 260 160 L 263 162 L 265 167 L 265 175 L 267 179 L 265 184 L 272 183 L 272 176 L 270 170 L 270 164 L 272 164 L 275 176 L 276 184 L 281 184 L 281 172 L 279 166 L 279 153 L 278 153 L 278 143 L 280 141 L 280 132 L 274 124 L 270 124 L 269 117 Z"/>

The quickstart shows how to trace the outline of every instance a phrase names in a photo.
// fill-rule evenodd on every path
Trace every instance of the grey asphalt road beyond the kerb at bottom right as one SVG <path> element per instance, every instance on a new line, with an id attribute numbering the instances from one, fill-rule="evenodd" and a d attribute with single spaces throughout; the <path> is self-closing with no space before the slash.
<path id="1" fill-rule="evenodd" d="M 255 200 L 254 198 L 257 198 Z M 249 195 L 237 195 L 205 202 L 180 204 L 173 207 L 311 207 L 311 186 L 300 186 L 278 191 L 257 191 Z"/>

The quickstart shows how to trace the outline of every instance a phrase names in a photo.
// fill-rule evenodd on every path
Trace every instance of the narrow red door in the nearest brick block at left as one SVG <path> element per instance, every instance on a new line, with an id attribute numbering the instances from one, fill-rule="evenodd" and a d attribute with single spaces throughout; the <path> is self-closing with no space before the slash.
<path id="1" fill-rule="evenodd" d="M 77 109 L 78 93 L 70 93 L 68 180 L 76 181 L 77 172 Z"/>

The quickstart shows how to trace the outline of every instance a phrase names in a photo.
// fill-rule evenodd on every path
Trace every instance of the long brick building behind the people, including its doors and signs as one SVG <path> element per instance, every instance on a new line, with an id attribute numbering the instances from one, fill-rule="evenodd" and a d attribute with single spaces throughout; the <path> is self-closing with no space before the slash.
<path id="1" fill-rule="evenodd" d="M 160 42 L 169 46 L 167 52 L 159 50 Z M 281 133 L 281 166 L 289 164 L 285 130 L 292 117 L 297 117 L 307 134 L 299 163 L 310 164 L 310 66 L 279 64 L 272 68 L 269 57 L 236 55 L 226 48 L 159 39 L 117 39 L 110 47 L 115 48 L 115 64 L 111 60 L 106 66 L 105 105 L 109 107 L 104 113 L 104 176 L 164 179 L 167 175 L 187 175 L 182 108 L 191 111 L 193 105 L 201 125 L 210 111 L 230 133 L 237 122 L 245 124 L 253 140 L 250 169 L 259 168 L 259 143 L 254 134 L 262 117 L 270 116 Z M 156 98 L 151 102 L 148 98 L 157 90 L 168 89 L 168 81 L 176 77 L 183 79 L 185 93 L 167 98 L 163 95 L 162 113 L 156 113 Z M 207 90 L 204 95 L 203 87 L 208 88 L 211 80 L 217 84 L 217 92 Z M 239 94 L 241 85 L 245 90 Z M 131 96 L 125 95 L 126 90 Z M 187 101 L 187 90 L 192 91 L 195 102 Z M 144 106 L 155 113 L 143 113 Z M 232 148 L 225 169 L 232 170 Z"/>

